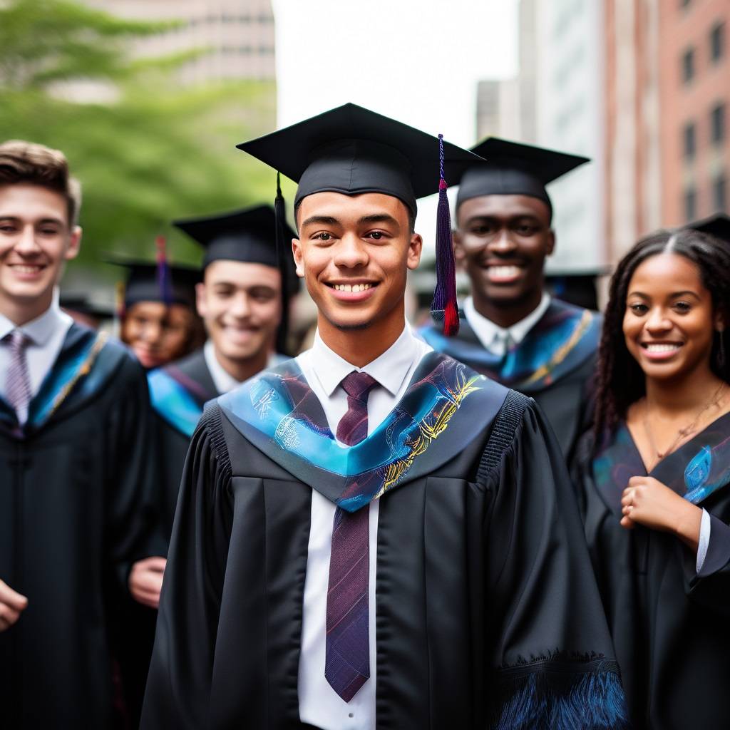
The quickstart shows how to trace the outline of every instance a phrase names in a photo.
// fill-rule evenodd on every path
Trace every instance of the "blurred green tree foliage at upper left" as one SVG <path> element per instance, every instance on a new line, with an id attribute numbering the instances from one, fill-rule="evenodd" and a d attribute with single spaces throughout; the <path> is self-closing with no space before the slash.
<path id="1" fill-rule="evenodd" d="M 235 149 L 273 128 L 270 80 L 182 85 L 193 52 L 134 58 L 135 39 L 175 23 L 115 18 L 72 0 L 0 0 L 0 139 L 62 150 L 83 186 L 80 258 L 153 260 L 169 234 L 172 260 L 198 247 L 174 218 L 272 201 L 272 173 Z"/>

